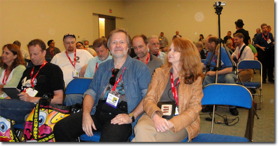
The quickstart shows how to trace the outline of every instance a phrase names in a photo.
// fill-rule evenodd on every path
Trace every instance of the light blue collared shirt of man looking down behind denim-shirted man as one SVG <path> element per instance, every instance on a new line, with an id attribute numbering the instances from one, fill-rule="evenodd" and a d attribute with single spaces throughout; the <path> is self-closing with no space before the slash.
<path id="1" fill-rule="evenodd" d="M 109 56 L 107 59 L 101 61 L 99 59 L 99 57 L 94 57 L 94 58 L 91 58 L 89 61 L 88 61 L 88 66 L 86 68 L 86 71 L 85 71 L 85 74 L 84 74 L 84 77 L 93 77 L 94 74 L 95 74 L 95 69 L 96 69 L 96 63 L 98 63 L 97 67 L 99 67 L 100 64 L 102 64 L 103 62 L 109 60 L 109 59 L 112 59 L 112 56 L 110 55 L 109 53 Z"/>

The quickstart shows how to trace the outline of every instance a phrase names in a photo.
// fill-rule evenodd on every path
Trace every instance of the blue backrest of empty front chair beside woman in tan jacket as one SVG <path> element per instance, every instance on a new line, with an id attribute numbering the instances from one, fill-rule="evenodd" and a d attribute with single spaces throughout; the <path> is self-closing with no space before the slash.
<path id="1" fill-rule="evenodd" d="M 250 109 L 252 95 L 249 90 L 234 84 L 210 84 L 203 89 L 202 105 L 229 105 Z"/>

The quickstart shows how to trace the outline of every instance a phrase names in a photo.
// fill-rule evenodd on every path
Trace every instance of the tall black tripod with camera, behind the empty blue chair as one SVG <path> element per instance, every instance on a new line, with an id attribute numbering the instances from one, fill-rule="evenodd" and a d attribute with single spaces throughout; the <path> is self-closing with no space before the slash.
<path id="1" fill-rule="evenodd" d="M 208 65 L 206 66 L 206 73 L 207 73 L 207 71 L 209 70 L 210 67 L 214 67 L 214 68 L 215 68 L 215 70 L 216 70 L 215 84 L 217 84 L 217 80 L 218 80 L 218 71 L 220 71 L 220 70 L 222 69 L 222 66 L 221 66 L 221 57 L 222 57 L 222 56 L 221 56 L 221 54 L 222 54 L 222 53 L 221 53 L 221 50 L 222 50 L 221 47 L 222 47 L 222 46 L 221 46 L 221 45 L 222 45 L 222 44 L 224 45 L 224 40 L 221 38 L 220 15 L 222 14 L 221 12 L 222 12 L 222 10 L 223 10 L 223 7 L 222 7 L 222 6 L 225 6 L 225 5 L 226 5 L 226 4 L 225 4 L 224 2 L 215 2 L 215 4 L 213 5 L 213 7 L 214 7 L 214 9 L 215 9 L 215 13 L 218 15 L 218 39 L 217 39 L 216 42 L 215 42 L 214 50 L 213 50 L 213 52 L 212 52 L 212 54 L 211 54 L 211 56 L 210 56 Z M 215 53 L 215 51 L 216 51 L 217 46 L 218 46 L 218 54 L 217 54 L 216 66 L 211 66 L 210 64 L 211 64 L 211 61 L 212 61 L 212 58 L 213 58 L 213 56 L 214 56 L 214 53 Z M 225 46 L 225 45 L 224 45 L 224 46 Z M 242 86 L 244 86 L 244 84 L 243 84 L 243 82 L 242 82 L 242 80 L 241 80 L 241 78 L 240 78 L 238 72 L 236 71 L 236 64 L 235 64 L 235 62 L 232 60 L 229 51 L 228 51 L 227 49 L 225 49 L 225 50 L 226 50 L 226 53 L 227 53 L 228 57 L 230 58 L 230 61 L 231 61 L 232 66 L 225 66 L 225 67 L 223 67 L 223 68 L 232 67 L 232 68 L 233 68 L 232 71 L 235 71 L 235 72 L 236 72 L 236 74 L 237 74 L 239 80 L 241 81 Z M 205 73 L 205 74 L 206 74 L 206 73 Z M 249 116 L 251 116 L 250 114 L 252 114 L 252 115 L 255 114 L 255 115 L 257 116 L 257 113 L 256 113 L 256 111 L 255 111 L 254 106 L 252 106 L 252 108 L 251 108 L 250 110 L 251 110 L 251 111 L 249 112 Z M 214 115 L 214 112 L 215 112 L 215 105 L 213 106 L 213 115 Z M 253 117 L 253 116 L 252 116 L 252 117 Z M 250 118 L 251 118 L 251 117 L 250 117 Z M 257 116 L 257 119 L 259 119 L 258 116 Z M 213 123 L 214 123 L 213 120 L 214 120 L 214 118 L 212 118 L 211 133 L 213 133 Z M 253 123 L 252 123 L 252 127 L 253 127 Z"/>

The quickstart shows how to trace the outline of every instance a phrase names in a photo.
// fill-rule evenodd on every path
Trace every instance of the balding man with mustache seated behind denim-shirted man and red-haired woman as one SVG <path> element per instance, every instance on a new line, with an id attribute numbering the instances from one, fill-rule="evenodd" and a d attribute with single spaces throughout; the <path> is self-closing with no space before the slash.
<path id="1" fill-rule="evenodd" d="M 134 59 L 144 62 L 149 67 L 151 75 L 154 73 L 155 69 L 160 68 L 163 65 L 161 59 L 148 52 L 149 45 L 145 35 L 134 36 L 132 43 L 135 54 L 137 55 Z"/>

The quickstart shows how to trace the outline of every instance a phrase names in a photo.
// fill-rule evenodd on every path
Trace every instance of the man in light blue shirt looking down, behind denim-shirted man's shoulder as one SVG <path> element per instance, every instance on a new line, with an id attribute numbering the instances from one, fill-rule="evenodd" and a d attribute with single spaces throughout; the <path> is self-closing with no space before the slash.
<path id="1" fill-rule="evenodd" d="M 98 66 L 103 62 L 112 59 L 107 43 L 108 41 L 106 38 L 97 38 L 96 40 L 94 40 L 93 47 L 95 48 L 97 57 L 91 58 L 89 60 L 84 77 L 93 78 Z"/>

